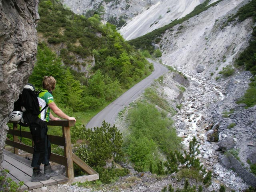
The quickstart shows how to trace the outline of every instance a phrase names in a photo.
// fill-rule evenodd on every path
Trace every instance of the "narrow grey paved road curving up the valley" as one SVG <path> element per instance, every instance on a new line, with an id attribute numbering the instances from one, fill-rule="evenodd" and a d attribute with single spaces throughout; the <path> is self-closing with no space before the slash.
<path id="1" fill-rule="evenodd" d="M 105 120 L 106 122 L 114 125 L 116 117 L 118 113 L 125 107 L 128 106 L 131 102 L 133 102 L 148 86 L 152 84 L 152 82 L 160 77 L 162 74 L 168 71 L 168 69 L 161 64 L 153 61 L 148 60 L 149 62 L 153 63 L 154 71 L 150 76 L 139 82 L 138 84 L 134 85 L 116 100 L 114 100 L 111 104 L 106 106 L 102 111 L 100 111 L 96 116 L 94 116 L 86 125 L 86 128 L 94 128 L 100 127 L 102 121 Z"/>

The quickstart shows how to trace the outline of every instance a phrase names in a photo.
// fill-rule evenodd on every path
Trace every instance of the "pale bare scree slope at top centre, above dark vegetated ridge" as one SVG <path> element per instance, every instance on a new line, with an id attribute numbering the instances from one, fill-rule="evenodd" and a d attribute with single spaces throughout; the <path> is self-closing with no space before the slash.
<path id="1" fill-rule="evenodd" d="M 204 0 L 159 1 L 146 11 L 132 18 L 126 25 L 122 26 L 119 32 L 126 40 L 137 38 L 169 24 L 172 20 L 186 16 L 202 2 Z"/>

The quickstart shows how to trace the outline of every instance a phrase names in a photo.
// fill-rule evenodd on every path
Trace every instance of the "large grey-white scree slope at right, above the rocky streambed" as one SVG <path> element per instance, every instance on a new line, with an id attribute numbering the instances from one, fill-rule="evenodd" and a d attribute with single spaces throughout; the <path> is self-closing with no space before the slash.
<path id="1" fill-rule="evenodd" d="M 175 26 L 173 31 L 166 32 L 160 42 L 162 62 L 194 73 L 201 66 L 206 69 L 202 76 L 210 77 L 213 72 L 212 77 L 216 77 L 223 67 L 232 64 L 233 59 L 248 46 L 253 26 L 251 19 L 242 23 L 233 22 L 222 28 L 227 19 L 247 2 L 224 0 Z"/>

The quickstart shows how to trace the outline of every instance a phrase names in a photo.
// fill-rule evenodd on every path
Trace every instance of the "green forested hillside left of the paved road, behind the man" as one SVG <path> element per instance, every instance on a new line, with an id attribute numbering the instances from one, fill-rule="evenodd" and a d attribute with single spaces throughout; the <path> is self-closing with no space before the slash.
<path id="1" fill-rule="evenodd" d="M 96 110 L 150 74 L 152 66 L 98 15 L 79 16 L 41 0 L 38 56 L 30 82 L 57 80 L 55 100 L 73 111 Z"/>

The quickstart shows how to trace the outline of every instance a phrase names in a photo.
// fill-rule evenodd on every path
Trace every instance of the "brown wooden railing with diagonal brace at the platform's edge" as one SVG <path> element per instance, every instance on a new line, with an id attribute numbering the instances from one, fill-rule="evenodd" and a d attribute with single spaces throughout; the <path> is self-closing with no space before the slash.
<path id="1" fill-rule="evenodd" d="M 70 127 L 75 125 L 74 120 L 57 120 L 49 121 L 49 126 L 62 126 L 62 136 L 48 135 L 51 144 L 56 144 L 58 146 L 64 147 L 64 156 L 52 153 L 50 156 L 50 161 L 56 162 L 58 164 L 64 165 L 66 168 L 66 177 L 69 178 L 69 182 L 84 182 L 97 180 L 99 178 L 98 173 L 88 166 L 84 161 L 82 161 L 76 154 L 72 152 Z M 18 154 L 18 149 L 24 150 L 28 153 L 33 154 L 33 147 L 28 146 L 22 142 L 18 141 L 18 136 L 22 138 L 32 139 L 32 135 L 28 131 L 21 131 L 17 129 L 17 124 L 13 123 L 13 129 L 8 130 L 8 134 L 13 135 L 13 141 L 6 139 L 6 144 L 14 147 L 14 153 Z M 80 168 L 82 168 L 89 175 L 74 177 L 74 166 L 73 162 L 76 163 Z"/>

